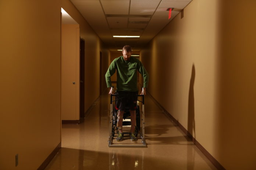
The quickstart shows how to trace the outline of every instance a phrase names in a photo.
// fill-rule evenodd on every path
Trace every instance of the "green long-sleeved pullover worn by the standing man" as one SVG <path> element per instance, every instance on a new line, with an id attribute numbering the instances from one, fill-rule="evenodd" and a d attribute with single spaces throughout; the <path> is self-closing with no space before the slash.
<path id="1" fill-rule="evenodd" d="M 137 70 L 144 79 L 143 87 L 147 87 L 149 75 L 140 60 L 130 57 L 129 61 L 125 61 L 123 56 L 114 59 L 105 75 L 107 87 L 111 87 L 110 77 L 115 73 L 115 70 L 117 70 L 118 91 L 138 91 Z"/>

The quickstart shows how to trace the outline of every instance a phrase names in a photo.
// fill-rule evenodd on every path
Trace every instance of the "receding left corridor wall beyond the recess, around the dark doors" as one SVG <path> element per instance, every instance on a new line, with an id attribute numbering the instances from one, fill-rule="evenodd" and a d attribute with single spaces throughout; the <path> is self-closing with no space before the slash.
<path id="1" fill-rule="evenodd" d="M 80 37 L 85 40 L 85 111 L 99 97 L 100 93 L 100 51 L 105 61 L 109 58 L 109 50 L 82 17 L 77 8 L 69 0 L 61 0 L 62 8 L 79 24 Z M 106 70 L 103 63 L 102 70 Z M 106 88 L 102 81 L 102 90 Z"/>

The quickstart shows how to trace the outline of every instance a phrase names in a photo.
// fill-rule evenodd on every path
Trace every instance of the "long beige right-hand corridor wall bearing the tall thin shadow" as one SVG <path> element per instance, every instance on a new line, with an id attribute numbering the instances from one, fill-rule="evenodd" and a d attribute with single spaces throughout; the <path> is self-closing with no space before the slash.
<path id="1" fill-rule="evenodd" d="M 253 0 L 193 0 L 141 51 L 148 91 L 226 169 L 256 169 Z"/>

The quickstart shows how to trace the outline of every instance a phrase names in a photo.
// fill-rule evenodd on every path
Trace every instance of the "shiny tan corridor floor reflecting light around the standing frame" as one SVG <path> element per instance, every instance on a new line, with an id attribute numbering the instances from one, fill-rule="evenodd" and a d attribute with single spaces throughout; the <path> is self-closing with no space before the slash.
<path id="1" fill-rule="evenodd" d="M 216 169 L 149 95 L 145 97 L 147 147 L 109 148 L 109 103 L 105 91 L 83 123 L 62 126 L 62 148 L 46 170 Z M 128 138 L 123 142 L 131 143 Z"/>

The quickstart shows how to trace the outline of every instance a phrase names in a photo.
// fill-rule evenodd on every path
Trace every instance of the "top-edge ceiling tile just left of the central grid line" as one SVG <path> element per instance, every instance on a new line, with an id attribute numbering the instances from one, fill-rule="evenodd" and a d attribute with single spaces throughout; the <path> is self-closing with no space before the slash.
<path id="1" fill-rule="evenodd" d="M 105 14 L 129 14 L 130 1 L 101 1 Z"/>

